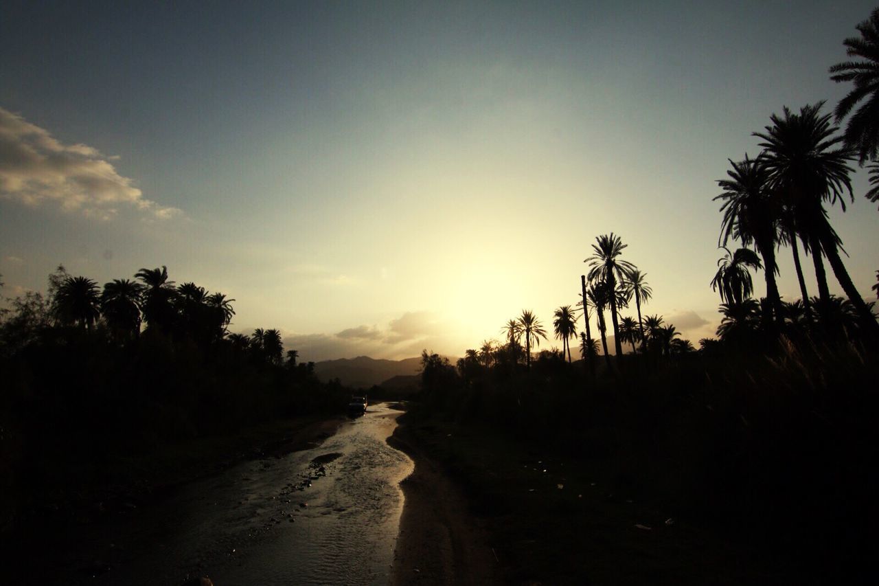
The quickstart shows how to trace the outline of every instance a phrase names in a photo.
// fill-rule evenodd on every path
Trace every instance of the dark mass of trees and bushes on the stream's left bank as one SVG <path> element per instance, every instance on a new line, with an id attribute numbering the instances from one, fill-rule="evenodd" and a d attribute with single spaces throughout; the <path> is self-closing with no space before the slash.
<path id="1" fill-rule="evenodd" d="M 103 290 L 59 267 L 45 297 L 11 300 L 0 320 L 0 529 L 122 506 L 152 472 L 182 480 L 200 451 L 228 460 L 252 447 L 222 455 L 210 438 L 342 413 L 350 392 L 319 382 L 294 350 L 282 359 L 277 330 L 227 332 L 232 301 L 174 286 L 164 267 Z"/>

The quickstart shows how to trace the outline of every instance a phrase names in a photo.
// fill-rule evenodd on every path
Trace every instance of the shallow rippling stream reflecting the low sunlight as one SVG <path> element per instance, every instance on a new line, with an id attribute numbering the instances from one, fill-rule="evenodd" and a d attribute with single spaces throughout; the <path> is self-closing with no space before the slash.
<path id="1" fill-rule="evenodd" d="M 319 446 L 230 467 L 84 529 L 64 584 L 387 584 L 413 470 L 386 404 Z M 83 555 L 108 560 L 83 567 Z"/>

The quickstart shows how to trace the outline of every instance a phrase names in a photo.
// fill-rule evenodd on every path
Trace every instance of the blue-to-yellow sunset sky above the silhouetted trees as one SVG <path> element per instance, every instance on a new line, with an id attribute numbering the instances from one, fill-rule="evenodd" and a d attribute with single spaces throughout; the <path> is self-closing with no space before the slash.
<path id="1" fill-rule="evenodd" d="M 719 322 L 716 180 L 783 106 L 848 92 L 827 69 L 873 8 L 5 0 L 0 293 L 59 263 L 100 284 L 166 265 L 302 360 L 462 355 L 524 309 L 547 348 L 614 232 L 643 312 L 697 344 Z M 831 221 L 870 297 L 867 188 L 856 172 Z"/>

